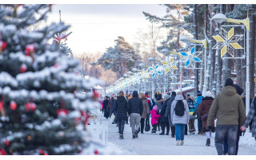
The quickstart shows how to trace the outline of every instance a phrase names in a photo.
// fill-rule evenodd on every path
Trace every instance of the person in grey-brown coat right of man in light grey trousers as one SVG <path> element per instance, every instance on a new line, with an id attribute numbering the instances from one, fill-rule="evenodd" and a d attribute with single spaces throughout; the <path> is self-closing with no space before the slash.
<path id="1" fill-rule="evenodd" d="M 143 104 L 141 127 L 138 130 L 138 132 L 141 132 L 141 134 L 144 134 L 143 131 L 144 131 L 144 126 L 145 126 L 145 118 L 147 118 L 147 116 L 150 115 L 150 106 L 149 106 L 149 102 L 147 101 L 147 99 L 143 93 L 138 94 L 138 98 L 142 99 L 142 104 Z"/>

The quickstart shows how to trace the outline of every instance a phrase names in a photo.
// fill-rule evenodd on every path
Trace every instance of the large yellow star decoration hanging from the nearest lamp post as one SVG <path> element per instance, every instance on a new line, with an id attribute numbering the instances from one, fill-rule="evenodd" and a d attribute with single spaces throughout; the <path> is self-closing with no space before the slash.
<path id="1" fill-rule="evenodd" d="M 213 36 L 217 41 L 217 44 L 213 49 L 221 49 L 221 58 L 226 54 L 230 54 L 234 58 L 234 50 L 243 49 L 242 46 L 238 44 L 238 41 L 243 37 L 243 34 L 234 34 L 234 27 L 232 27 L 228 32 L 224 28 L 221 29 L 221 35 Z"/>

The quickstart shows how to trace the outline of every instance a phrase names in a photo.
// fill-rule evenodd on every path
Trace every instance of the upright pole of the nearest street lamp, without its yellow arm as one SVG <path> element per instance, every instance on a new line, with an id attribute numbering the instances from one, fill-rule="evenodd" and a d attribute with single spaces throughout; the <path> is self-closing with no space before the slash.
<path id="1" fill-rule="evenodd" d="M 246 30 L 246 115 L 250 110 L 250 82 L 249 82 L 249 30 Z"/>

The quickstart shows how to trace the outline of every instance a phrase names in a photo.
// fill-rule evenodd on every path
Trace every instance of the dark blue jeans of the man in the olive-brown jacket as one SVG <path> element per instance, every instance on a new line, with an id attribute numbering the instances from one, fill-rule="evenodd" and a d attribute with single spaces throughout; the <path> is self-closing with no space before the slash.
<path id="1" fill-rule="evenodd" d="M 238 136 L 238 125 L 217 125 L 215 133 L 215 147 L 218 155 L 223 155 L 223 142 L 227 138 L 227 152 L 229 155 L 236 154 L 236 142 Z"/>

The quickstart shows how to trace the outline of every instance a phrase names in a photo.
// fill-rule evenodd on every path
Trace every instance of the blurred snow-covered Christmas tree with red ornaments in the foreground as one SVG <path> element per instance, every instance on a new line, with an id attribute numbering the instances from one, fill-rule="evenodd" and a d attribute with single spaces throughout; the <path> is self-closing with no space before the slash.
<path id="1" fill-rule="evenodd" d="M 78 154 L 90 145 L 86 124 L 98 95 L 78 91 L 98 80 L 80 76 L 67 56 L 60 41 L 70 26 L 30 30 L 49 12 L 50 5 L 0 5 L 0 154 Z"/>

